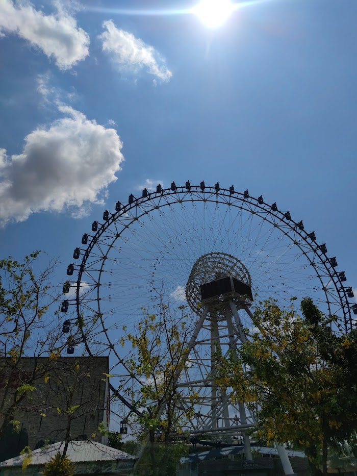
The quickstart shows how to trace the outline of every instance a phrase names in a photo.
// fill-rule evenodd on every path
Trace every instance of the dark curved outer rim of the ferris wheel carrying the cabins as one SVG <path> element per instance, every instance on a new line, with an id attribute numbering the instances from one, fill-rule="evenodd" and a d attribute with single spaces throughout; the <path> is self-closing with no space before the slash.
<path id="1" fill-rule="evenodd" d="M 236 208 L 239 208 L 241 210 L 247 211 L 251 213 L 252 215 L 257 215 L 260 219 L 272 224 L 274 227 L 278 228 L 280 232 L 282 232 L 286 237 L 288 237 L 290 240 L 294 242 L 294 245 L 296 245 L 299 249 L 301 254 L 305 255 L 305 258 L 310 262 L 310 264 L 314 267 L 314 270 L 316 272 L 316 277 L 320 280 L 321 283 L 321 290 L 324 292 L 325 297 L 326 297 L 326 303 L 328 306 L 328 310 L 330 311 L 330 300 L 328 297 L 328 293 L 326 288 L 324 287 L 324 283 L 322 281 L 321 275 L 318 273 L 318 268 L 316 266 L 316 263 L 310 258 L 310 256 L 303 250 L 301 247 L 301 243 L 303 242 L 305 246 L 310 248 L 310 251 L 314 254 L 314 257 L 318 257 L 319 262 L 318 264 L 323 266 L 324 270 L 326 271 L 326 274 L 328 275 L 330 281 L 333 283 L 334 288 L 336 289 L 337 295 L 339 297 L 339 301 L 341 304 L 341 310 L 343 313 L 343 319 L 344 319 L 344 332 L 347 333 L 348 330 L 352 328 L 352 315 L 351 315 L 351 310 L 352 310 L 352 303 L 349 303 L 348 297 L 347 297 L 347 291 L 342 284 L 341 281 L 341 276 L 340 274 L 344 274 L 344 272 L 337 271 L 335 268 L 336 266 L 333 266 L 331 264 L 331 260 L 333 258 L 328 258 L 327 256 L 327 251 L 323 252 L 323 250 L 320 249 L 320 246 L 317 243 L 317 239 L 315 237 L 314 232 L 308 233 L 307 231 L 304 230 L 302 221 L 295 221 L 291 218 L 289 212 L 282 212 L 277 209 L 276 203 L 270 205 L 264 202 L 262 196 L 259 198 L 255 198 L 249 195 L 248 191 L 245 192 L 239 192 L 239 191 L 232 191 L 231 189 L 225 189 L 225 188 L 220 188 L 217 190 L 217 187 L 211 187 L 211 186 L 206 186 L 205 188 L 202 189 L 201 186 L 195 186 L 195 185 L 190 185 L 190 188 L 188 189 L 187 186 L 180 186 L 176 187 L 175 190 L 172 190 L 172 188 L 166 188 L 166 189 L 161 189 L 160 192 L 147 192 L 146 196 L 142 196 L 139 198 L 135 198 L 133 195 L 134 199 L 132 199 L 132 203 L 128 203 L 127 205 L 122 205 L 120 204 L 119 210 L 117 210 L 115 213 L 108 212 L 108 219 L 104 220 L 103 222 L 97 222 L 98 229 L 95 232 L 95 234 L 91 235 L 88 234 L 88 238 L 90 237 L 89 244 L 87 248 L 84 250 L 83 257 L 81 260 L 80 265 L 76 265 L 78 267 L 78 279 L 76 282 L 73 284 L 76 286 L 76 292 L 75 292 L 75 299 L 74 303 L 77 309 L 77 315 L 80 316 L 80 305 L 81 305 L 81 295 L 80 295 L 80 286 L 82 282 L 82 277 L 83 277 L 83 272 L 85 270 L 85 265 L 86 262 L 92 252 L 93 246 L 96 244 L 96 242 L 100 239 L 101 235 L 103 235 L 109 227 L 116 222 L 120 217 L 123 215 L 126 215 L 133 210 L 135 210 L 135 214 L 133 214 L 132 219 L 128 222 L 124 229 L 129 228 L 132 226 L 133 222 L 138 220 L 140 217 L 144 215 L 148 215 L 151 211 L 153 210 L 159 210 L 162 207 L 166 206 L 171 206 L 177 203 L 186 203 L 186 202 L 213 202 L 216 204 L 222 204 L 226 206 L 233 206 Z M 168 197 L 170 197 L 171 201 L 168 201 Z M 232 202 L 232 199 L 235 200 L 235 203 Z M 153 201 L 156 202 L 153 202 Z M 152 204 L 152 207 L 149 210 L 144 210 L 143 208 L 140 208 L 141 206 L 144 206 L 146 204 Z M 155 206 L 154 206 L 155 204 Z M 137 211 L 141 210 L 141 214 L 137 214 Z M 106 211 L 107 212 L 107 211 Z M 294 233 L 295 236 L 299 237 L 299 241 L 293 239 L 293 237 L 289 233 Z M 313 235 L 313 236 L 312 236 Z M 118 234 L 117 236 L 114 237 L 114 241 L 120 236 Z M 107 255 L 109 253 L 109 250 L 111 249 L 112 245 L 108 246 L 107 253 L 103 255 L 101 258 L 101 267 L 99 271 L 99 281 L 100 282 L 100 275 L 101 272 L 103 272 L 104 264 L 107 258 Z M 82 248 L 80 248 L 81 251 L 83 251 Z M 69 282 L 71 283 L 71 282 Z M 99 285 L 97 286 L 97 300 L 99 303 Z M 100 308 L 99 308 L 100 311 Z M 103 332 L 106 333 L 104 321 L 103 321 L 103 316 L 100 315 L 99 312 L 99 317 L 101 319 L 102 327 L 103 327 Z M 87 337 L 85 335 L 85 332 L 83 329 L 81 329 L 82 333 L 82 338 L 83 338 L 83 343 L 85 344 L 86 350 L 88 352 L 89 356 L 92 356 L 91 349 L 88 345 L 87 342 Z M 109 347 L 113 349 L 116 357 L 119 359 L 121 363 L 123 363 L 122 359 L 119 357 L 118 353 L 116 352 L 115 346 L 111 344 L 111 341 L 109 339 L 109 336 L 107 334 L 107 339 L 109 343 Z"/>

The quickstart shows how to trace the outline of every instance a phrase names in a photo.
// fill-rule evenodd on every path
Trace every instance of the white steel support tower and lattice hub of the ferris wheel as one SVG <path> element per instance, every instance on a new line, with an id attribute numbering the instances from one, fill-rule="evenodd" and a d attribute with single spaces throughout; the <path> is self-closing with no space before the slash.
<path id="1" fill-rule="evenodd" d="M 217 349 L 220 352 L 224 348 L 237 351 L 239 345 L 248 341 L 239 311 L 246 312 L 250 319 L 253 317 L 249 309 L 253 301 L 249 272 L 243 263 L 230 255 L 224 253 L 204 255 L 192 268 L 186 286 L 186 298 L 191 309 L 200 316 L 188 345 L 186 359 L 190 355 L 191 364 L 199 366 L 199 359 L 196 360 L 194 356 L 201 353 L 196 353 L 195 348 L 198 345 L 209 344 L 210 373 L 206 382 L 205 379 L 202 382 L 190 379 L 190 372 L 186 370 L 186 379 L 177 379 L 176 387 L 180 389 L 190 386 L 197 391 L 202 386 L 211 388 L 208 410 L 205 415 L 196 415 L 196 422 L 191 421 L 195 430 L 189 433 L 219 436 L 227 443 L 232 443 L 233 436 L 242 436 L 245 458 L 252 460 L 250 438 L 246 430 L 256 423 L 254 415 L 243 401 L 236 404 L 235 411 L 239 416 L 237 413 L 235 417 L 230 415 L 229 410 L 232 406 L 230 397 L 215 383 L 215 375 L 219 369 Z M 205 329 L 209 329 L 209 342 L 199 340 Z M 233 358 L 235 356 L 238 358 L 236 352 L 233 353 Z M 277 442 L 275 446 L 285 474 L 294 474 L 285 446 Z"/>

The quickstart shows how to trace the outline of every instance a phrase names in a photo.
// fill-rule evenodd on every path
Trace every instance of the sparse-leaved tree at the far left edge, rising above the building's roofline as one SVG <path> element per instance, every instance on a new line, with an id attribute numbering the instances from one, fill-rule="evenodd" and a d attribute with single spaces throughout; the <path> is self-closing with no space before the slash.
<path id="1" fill-rule="evenodd" d="M 0 261 L 0 438 L 9 424 L 16 428 L 16 410 L 32 410 L 28 399 L 35 383 L 65 346 L 54 310 L 59 293 L 50 282 L 57 262 L 35 273 L 38 257 L 35 252 L 22 263 L 11 257 Z M 24 364 L 27 356 L 36 359 L 31 368 Z M 48 359 L 37 362 L 42 356 Z"/>

